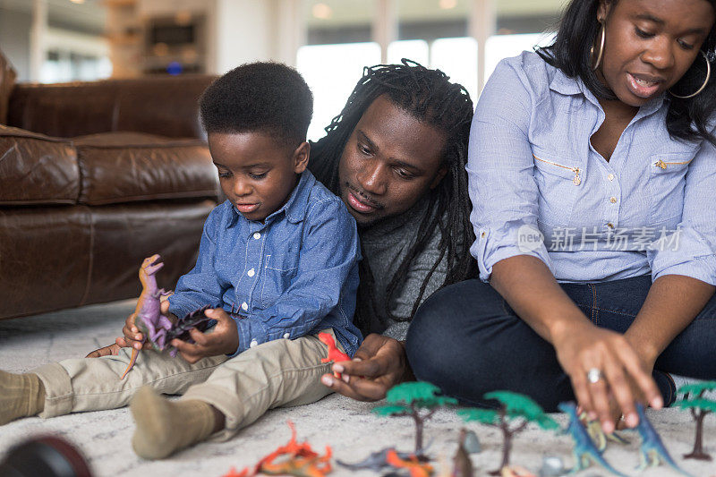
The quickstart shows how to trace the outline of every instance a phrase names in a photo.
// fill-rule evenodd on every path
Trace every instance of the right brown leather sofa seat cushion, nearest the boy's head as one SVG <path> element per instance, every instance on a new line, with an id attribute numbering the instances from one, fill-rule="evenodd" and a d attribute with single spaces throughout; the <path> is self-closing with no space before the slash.
<path id="1" fill-rule="evenodd" d="M 216 198 L 218 179 L 209 148 L 138 132 L 75 138 L 81 171 L 80 203 Z"/>

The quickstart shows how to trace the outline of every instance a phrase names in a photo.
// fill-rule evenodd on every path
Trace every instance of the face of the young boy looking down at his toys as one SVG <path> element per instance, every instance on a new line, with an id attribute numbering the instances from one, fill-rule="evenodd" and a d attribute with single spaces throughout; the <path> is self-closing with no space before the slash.
<path id="1" fill-rule="evenodd" d="M 211 132 L 209 151 L 226 198 L 243 217 L 261 222 L 288 200 L 310 146 L 294 149 L 263 132 Z"/>

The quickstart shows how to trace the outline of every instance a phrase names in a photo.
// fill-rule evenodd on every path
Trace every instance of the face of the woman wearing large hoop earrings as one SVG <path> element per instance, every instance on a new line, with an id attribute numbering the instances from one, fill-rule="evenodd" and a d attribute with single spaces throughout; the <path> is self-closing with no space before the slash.
<path id="1" fill-rule="evenodd" d="M 602 0 L 605 24 L 601 81 L 629 106 L 642 106 L 671 88 L 695 61 L 712 30 L 707 0 Z M 597 35 L 599 48 L 600 37 Z"/>

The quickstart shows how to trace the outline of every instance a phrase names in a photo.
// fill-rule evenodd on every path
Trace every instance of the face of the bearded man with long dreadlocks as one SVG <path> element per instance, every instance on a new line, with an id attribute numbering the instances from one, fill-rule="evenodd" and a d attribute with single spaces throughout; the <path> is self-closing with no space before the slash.
<path id="1" fill-rule="evenodd" d="M 387 96 L 365 110 L 345 144 L 340 196 L 359 226 L 399 215 L 447 173 L 446 134 L 415 119 Z"/>

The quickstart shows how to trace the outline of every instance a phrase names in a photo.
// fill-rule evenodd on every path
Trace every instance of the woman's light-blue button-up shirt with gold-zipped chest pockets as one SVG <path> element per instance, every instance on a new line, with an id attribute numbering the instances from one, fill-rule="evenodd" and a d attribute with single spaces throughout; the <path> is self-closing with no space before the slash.
<path id="1" fill-rule="evenodd" d="M 651 273 L 716 285 L 716 149 L 669 138 L 668 107 L 664 96 L 642 106 L 608 162 L 590 142 L 604 111 L 581 80 L 533 52 L 503 60 L 466 166 L 481 279 L 532 255 L 559 282 Z"/>

